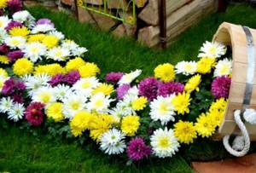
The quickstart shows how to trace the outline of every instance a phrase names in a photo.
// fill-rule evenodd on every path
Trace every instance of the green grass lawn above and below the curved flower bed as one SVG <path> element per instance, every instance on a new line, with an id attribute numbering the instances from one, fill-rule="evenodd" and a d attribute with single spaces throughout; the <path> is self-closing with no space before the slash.
<path id="1" fill-rule="evenodd" d="M 153 75 L 154 67 L 160 63 L 195 60 L 201 44 L 212 39 L 223 21 L 256 28 L 255 9 L 247 5 L 230 5 L 225 14 L 208 16 L 184 32 L 168 49 L 160 51 L 143 47 L 128 38 L 114 38 L 107 32 L 79 24 L 67 14 L 50 12 L 42 7 L 30 8 L 29 11 L 37 19 L 51 19 L 59 31 L 89 49 L 88 60 L 96 62 L 102 76 L 107 72 L 130 72 L 140 68 L 142 77 L 145 77 Z M 0 128 L 0 171 L 192 172 L 189 167 L 191 160 L 227 157 L 220 142 L 204 141 L 182 148 L 183 152 L 172 159 L 152 159 L 125 166 L 125 159 L 108 158 L 90 144 L 81 146 L 75 141 L 49 138 L 44 130 L 31 134 L 10 124 Z"/>

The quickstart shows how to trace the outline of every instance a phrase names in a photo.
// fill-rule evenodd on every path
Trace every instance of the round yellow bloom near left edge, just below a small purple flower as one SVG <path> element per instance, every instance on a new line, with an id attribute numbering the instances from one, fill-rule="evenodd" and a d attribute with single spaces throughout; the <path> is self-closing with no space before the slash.
<path id="1" fill-rule="evenodd" d="M 26 74 L 30 74 L 33 72 L 33 63 L 26 58 L 20 58 L 19 60 L 15 61 L 13 66 L 13 72 L 17 76 L 23 76 Z"/>

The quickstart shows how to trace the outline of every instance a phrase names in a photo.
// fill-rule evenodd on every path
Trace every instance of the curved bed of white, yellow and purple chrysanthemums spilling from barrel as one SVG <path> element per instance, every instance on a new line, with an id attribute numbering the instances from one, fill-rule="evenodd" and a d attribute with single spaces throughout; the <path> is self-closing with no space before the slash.
<path id="1" fill-rule="evenodd" d="M 98 66 L 84 61 L 87 49 L 49 19 L 20 11 L 20 3 L 7 11 L 12 1 L 0 3 L 0 112 L 8 121 L 51 131 L 59 124 L 133 161 L 172 157 L 221 124 L 232 70 L 223 44 L 206 42 L 199 61 L 161 64 L 138 83 L 138 69 L 100 80 Z"/>

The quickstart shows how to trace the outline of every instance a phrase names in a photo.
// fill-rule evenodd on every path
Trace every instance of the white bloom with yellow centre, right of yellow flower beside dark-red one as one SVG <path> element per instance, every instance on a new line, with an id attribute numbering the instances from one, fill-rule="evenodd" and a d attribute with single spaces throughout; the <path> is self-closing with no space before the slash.
<path id="1" fill-rule="evenodd" d="M 84 95 L 71 94 L 66 95 L 63 100 L 63 113 L 66 118 L 73 118 L 73 116 L 86 108 L 87 98 Z"/>

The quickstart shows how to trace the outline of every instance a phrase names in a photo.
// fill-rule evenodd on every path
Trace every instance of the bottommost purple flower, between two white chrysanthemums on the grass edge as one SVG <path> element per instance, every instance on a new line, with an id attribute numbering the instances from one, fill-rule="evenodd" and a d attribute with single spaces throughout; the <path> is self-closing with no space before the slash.
<path id="1" fill-rule="evenodd" d="M 150 156 L 151 148 L 146 146 L 143 138 L 137 137 L 129 142 L 126 153 L 130 159 L 137 161 Z"/>

